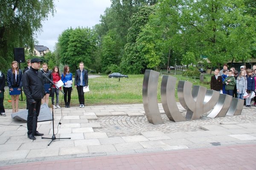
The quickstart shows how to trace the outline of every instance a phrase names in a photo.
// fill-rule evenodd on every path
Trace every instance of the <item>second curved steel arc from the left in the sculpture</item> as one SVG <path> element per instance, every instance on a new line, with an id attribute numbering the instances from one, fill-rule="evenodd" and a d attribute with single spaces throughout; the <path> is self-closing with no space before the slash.
<path id="1" fill-rule="evenodd" d="M 163 75 L 161 82 L 161 101 L 163 110 L 169 120 L 174 122 L 186 121 L 177 107 L 175 99 L 176 77 Z"/>

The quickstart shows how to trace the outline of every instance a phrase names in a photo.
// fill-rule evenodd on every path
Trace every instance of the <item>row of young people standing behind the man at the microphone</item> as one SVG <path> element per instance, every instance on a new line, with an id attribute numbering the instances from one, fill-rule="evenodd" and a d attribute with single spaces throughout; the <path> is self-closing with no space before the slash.
<path id="1" fill-rule="evenodd" d="M 27 71 L 31 66 L 31 60 L 27 60 L 28 67 L 23 70 L 23 73 Z M 46 93 L 44 98 L 41 100 L 41 103 L 46 103 L 48 105 L 49 96 L 52 97 L 52 105 L 53 108 L 61 108 L 59 106 L 59 89 L 56 88 L 56 84 L 59 80 L 62 80 L 64 83 L 63 90 L 64 90 L 64 102 L 65 108 L 70 108 L 70 100 L 71 100 L 71 92 L 72 92 L 72 84 L 73 84 L 73 75 L 69 71 L 69 66 L 64 66 L 64 72 L 60 74 L 58 66 L 54 66 L 52 71 L 49 71 L 48 66 L 46 63 L 42 64 L 42 74 L 43 81 L 45 85 L 49 85 L 49 89 Z M 19 69 L 18 62 L 13 61 L 12 67 L 7 71 L 7 76 L 0 71 L 0 115 L 6 116 L 5 109 L 3 106 L 3 99 L 4 99 L 4 87 L 7 80 L 7 86 L 9 87 L 9 91 L 21 91 L 22 88 L 22 71 Z M 48 78 L 47 78 L 48 77 Z M 51 81 L 50 81 L 51 80 Z M 52 84 L 53 82 L 53 84 Z M 79 63 L 79 69 L 76 71 L 75 75 L 75 87 L 78 88 L 78 95 L 79 95 L 79 103 L 80 108 L 84 108 L 84 92 L 83 87 L 88 85 L 88 72 L 84 69 L 84 63 Z M 46 87 L 46 86 L 45 86 Z M 61 89 L 61 88 L 60 88 Z M 82 90 L 81 90 L 82 89 Z M 12 94 L 12 113 L 18 112 L 18 103 L 19 103 L 19 94 Z M 56 102 L 54 102 L 56 96 Z"/>

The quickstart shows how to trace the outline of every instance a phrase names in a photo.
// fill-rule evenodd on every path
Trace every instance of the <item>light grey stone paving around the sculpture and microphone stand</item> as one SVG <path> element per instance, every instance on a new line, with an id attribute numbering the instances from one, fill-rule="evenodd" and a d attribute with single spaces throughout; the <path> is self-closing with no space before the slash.
<path id="1" fill-rule="evenodd" d="M 161 104 L 159 108 L 160 112 L 163 112 Z M 184 111 L 179 103 L 178 108 Z M 246 144 L 256 143 L 256 107 L 244 107 L 239 116 L 209 119 L 204 115 L 200 120 L 176 123 L 169 121 L 162 114 L 162 125 L 147 122 L 143 104 L 55 109 L 56 137 L 71 139 L 55 140 L 49 146 L 49 139 L 41 139 L 38 136 L 35 141 L 29 140 L 26 135 L 26 123 L 12 119 L 11 110 L 6 110 L 6 113 L 6 117 L 0 117 L 0 169 L 5 165 L 24 162 L 42 164 L 44 161 L 52 160 L 66 162 L 67 159 L 76 161 L 84 157 L 134 153 L 151 153 L 157 156 L 158 152 L 163 151 L 211 148 L 218 145 L 236 148 L 239 144 L 247 147 Z M 62 124 L 58 125 L 60 120 Z M 52 121 L 39 122 L 38 130 L 45 134 L 44 137 L 51 137 Z M 251 147 L 255 145 L 250 145 Z M 248 150 L 254 151 L 247 149 L 244 154 L 251 154 Z M 191 153 L 193 152 L 188 151 L 186 154 Z M 202 156 L 201 159 L 205 157 Z M 72 161 L 70 162 L 72 165 Z M 246 164 L 246 160 L 243 162 Z M 181 167 L 186 169 L 182 165 L 176 169 Z M 256 169 L 255 163 L 249 167 Z M 249 167 L 247 169 L 250 169 Z M 38 169 L 40 168 L 39 166 Z"/>

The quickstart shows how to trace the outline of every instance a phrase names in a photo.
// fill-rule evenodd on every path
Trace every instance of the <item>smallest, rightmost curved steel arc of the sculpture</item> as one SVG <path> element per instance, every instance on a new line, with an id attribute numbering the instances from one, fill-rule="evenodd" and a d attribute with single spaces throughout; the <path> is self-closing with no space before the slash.
<path id="1" fill-rule="evenodd" d="M 229 115 L 229 116 L 240 115 L 242 112 L 243 106 L 244 106 L 244 100 L 233 98 L 230 108 L 228 109 L 226 115 Z"/>

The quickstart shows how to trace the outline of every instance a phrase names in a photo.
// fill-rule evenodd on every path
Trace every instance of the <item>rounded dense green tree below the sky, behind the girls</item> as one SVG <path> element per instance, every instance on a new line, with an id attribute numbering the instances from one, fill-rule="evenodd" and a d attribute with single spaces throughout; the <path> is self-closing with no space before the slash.
<path id="1" fill-rule="evenodd" d="M 75 72 L 80 62 L 91 68 L 95 62 L 97 34 L 90 28 L 69 28 L 58 38 L 59 55 L 64 65 Z"/>

